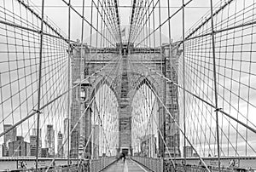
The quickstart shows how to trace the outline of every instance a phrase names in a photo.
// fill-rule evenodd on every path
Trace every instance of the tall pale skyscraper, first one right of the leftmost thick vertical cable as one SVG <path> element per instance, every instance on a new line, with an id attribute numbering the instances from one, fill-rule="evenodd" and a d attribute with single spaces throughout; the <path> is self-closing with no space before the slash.
<path id="1" fill-rule="evenodd" d="M 45 147 L 49 148 L 49 157 L 55 156 L 55 130 L 53 125 L 47 125 Z"/>

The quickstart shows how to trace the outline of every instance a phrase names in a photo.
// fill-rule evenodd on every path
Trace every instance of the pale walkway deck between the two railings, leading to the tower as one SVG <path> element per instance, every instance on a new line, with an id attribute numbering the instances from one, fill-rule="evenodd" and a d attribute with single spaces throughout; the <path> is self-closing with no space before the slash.
<path id="1" fill-rule="evenodd" d="M 145 169 L 143 166 L 138 163 L 132 161 L 131 159 L 127 159 L 125 163 L 119 161 L 117 163 L 113 163 L 107 169 L 103 170 L 103 172 L 149 172 L 149 170 Z"/>

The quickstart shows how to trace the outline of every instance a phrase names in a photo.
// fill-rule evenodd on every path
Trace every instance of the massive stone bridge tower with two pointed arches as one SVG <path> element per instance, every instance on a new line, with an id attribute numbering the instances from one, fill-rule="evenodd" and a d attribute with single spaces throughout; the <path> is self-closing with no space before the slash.
<path id="1" fill-rule="evenodd" d="M 86 110 L 84 117 L 79 120 L 79 125 L 71 135 L 71 157 L 90 156 L 91 145 L 86 149 L 86 154 L 81 155 L 81 150 L 87 142 L 91 131 L 91 109 L 90 100 L 99 88 L 102 78 L 114 82 L 110 85 L 119 101 L 119 150 L 131 152 L 131 102 L 137 89 L 142 86 L 146 79 L 150 88 L 161 98 L 166 108 L 179 122 L 179 109 L 177 99 L 177 87 L 160 77 L 160 73 L 177 83 L 177 59 L 181 54 L 176 45 L 172 44 L 172 52 L 169 53 L 169 44 L 163 45 L 161 49 L 134 48 L 130 43 L 116 44 L 116 48 L 89 49 L 86 45 L 74 44 L 72 51 L 72 83 L 79 84 L 72 93 L 71 106 L 71 128 L 79 120 L 81 113 Z M 120 58 L 119 75 L 111 76 L 113 67 L 111 59 Z M 137 71 L 131 71 L 128 66 L 128 57 L 133 66 L 138 66 Z M 145 67 L 141 66 L 141 63 Z M 106 66 L 108 64 L 108 66 Z M 172 64 L 172 67 L 171 67 Z M 99 71 L 103 66 L 106 66 Z M 154 71 L 152 71 L 152 70 Z M 96 75 L 89 77 L 94 72 Z M 155 73 L 157 72 L 157 73 Z M 81 76 L 81 77 L 80 77 Z M 85 79 L 86 78 L 86 79 Z M 110 82 L 109 82 L 110 83 Z M 160 130 L 165 136 L 166 145 L 172 156 L 179 157 L 180 135 L 177 126 L 166 112 L 166 109 L 158 101 L 158 116 Z M 79 109 L 81 112 L 79 112 Z M 160 135 L 160 134 L 159 134 Z M 163 141 L 160 140 L 160 156 L 167 155 Z"/>

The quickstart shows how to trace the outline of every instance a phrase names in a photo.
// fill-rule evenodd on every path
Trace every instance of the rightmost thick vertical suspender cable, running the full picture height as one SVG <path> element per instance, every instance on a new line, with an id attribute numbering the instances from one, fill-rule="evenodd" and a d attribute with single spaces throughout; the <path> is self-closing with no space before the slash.
<path id="1" fill-rule="evenodd" d="M 217 78 L 216 78 L 216 54 L 215 54 L 215 33 L 213 24 L 213 7 L 211 3 L 211 24 L 212 24 L 212 60 L 213 60 L 213 83 L 214 83 L 214 95 L 215 95 L 215 113 L 216 113 L 216 135 L 217 135 L 217 148 L 218 148 L 218 171 L 220 171 L 220 155 L 219 155 L 219 135 L 218 135 L 218 90 L 217 90 Z"/>

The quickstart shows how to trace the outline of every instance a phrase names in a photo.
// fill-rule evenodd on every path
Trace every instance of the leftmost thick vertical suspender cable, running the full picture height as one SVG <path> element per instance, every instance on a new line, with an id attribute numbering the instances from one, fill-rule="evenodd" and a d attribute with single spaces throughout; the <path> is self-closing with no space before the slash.
<path id="1" fill-rule="evenodd" d="M 40 32 L 40 52 L 39 52 L 39 75 L 38 75 L 38 129 L 37 129 L 37 152 L 36 152 L 36 172 L 38 171 L 38 147 L 39 147 L 39 125 L 40 125 L 40 99 L 42 84 L 42 60 L 43 60 L 43 30 L 44 30 L 44 0 L 42 0 L 41 32 Z"/>

